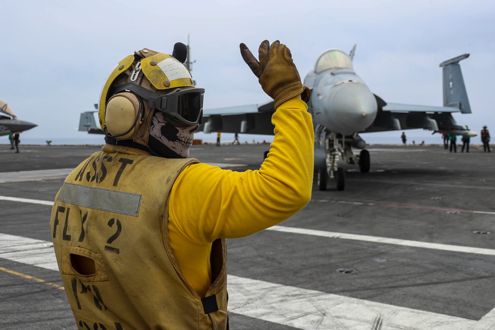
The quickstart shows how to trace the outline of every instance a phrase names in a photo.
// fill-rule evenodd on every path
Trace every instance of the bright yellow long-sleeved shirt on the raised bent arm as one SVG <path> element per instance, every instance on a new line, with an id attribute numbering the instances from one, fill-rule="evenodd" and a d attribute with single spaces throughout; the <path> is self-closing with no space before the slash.
<path id="1" fill-rule="evenodd" d="M 311 197 L 314 132 L 307 105 L 297 98 L 272 116 L 275 138 L 259 170 L 233 172 L 187 166 L 169 201 L 169 237 L 188 283 L 200 296 L 212 283 L 211 243 L 248 236 L 299 211 Z"/>

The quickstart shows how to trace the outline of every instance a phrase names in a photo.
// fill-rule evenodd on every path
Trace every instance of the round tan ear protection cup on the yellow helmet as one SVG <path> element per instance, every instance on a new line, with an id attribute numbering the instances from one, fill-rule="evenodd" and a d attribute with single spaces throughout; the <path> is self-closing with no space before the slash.
<path id="1" fill-rule="evenodd" d="M 115 94 L 106 103 L 106 135 L 117 140 L 126 140 L 133 136 L 143 122 L 141 99 L 134 93 Z"/>

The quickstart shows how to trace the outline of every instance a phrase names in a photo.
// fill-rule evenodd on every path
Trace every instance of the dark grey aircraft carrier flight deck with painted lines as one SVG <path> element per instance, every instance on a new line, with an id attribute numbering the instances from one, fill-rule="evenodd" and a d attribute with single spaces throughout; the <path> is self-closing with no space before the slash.
<path id="1" fill-rule="evenodd" d="M 78 328 L 51 242 L 65 176 L 101 145 L 0 144 L 0 329 Z M 258 169 L 268 144 L 193 145 Z M 278 226 L 229 239 L 231 329 L 495 329 L 495 157 L 443 145 L 369 145 L 346 188 L 313 184 Z M 253 205 L 253 207 L 256 207 Z"/>

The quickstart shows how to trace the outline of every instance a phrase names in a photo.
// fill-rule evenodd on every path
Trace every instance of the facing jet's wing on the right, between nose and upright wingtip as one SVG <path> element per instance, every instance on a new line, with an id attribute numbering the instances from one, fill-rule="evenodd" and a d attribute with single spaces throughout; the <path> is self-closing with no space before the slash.
<path id="1" fill-rule="evenodd" d="M 362 133 L 424 129 L 433 132 L 465 131 L 457 125 L 453 112 L 457 107 L 386 103 L 376 96 L 378 112 L 375 121 Z"/>

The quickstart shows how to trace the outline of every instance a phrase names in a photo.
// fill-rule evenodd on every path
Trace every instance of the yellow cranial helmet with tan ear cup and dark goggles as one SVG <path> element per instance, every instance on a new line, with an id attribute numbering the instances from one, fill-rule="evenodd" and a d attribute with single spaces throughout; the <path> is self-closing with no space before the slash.
<path id="1" fill-rule="evenodd" d="M 194 88 L 183 64 L 186 56 L 179 59 L 144 48 L 117 64 L 99 99 L 99 123 L 105 135 L 147 144 L 154 110 L 162 111 L 177 127 L 201 122 L 204 90 Z"/>

